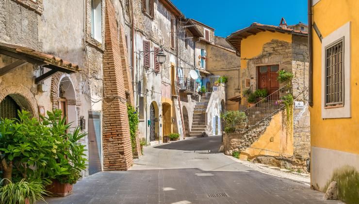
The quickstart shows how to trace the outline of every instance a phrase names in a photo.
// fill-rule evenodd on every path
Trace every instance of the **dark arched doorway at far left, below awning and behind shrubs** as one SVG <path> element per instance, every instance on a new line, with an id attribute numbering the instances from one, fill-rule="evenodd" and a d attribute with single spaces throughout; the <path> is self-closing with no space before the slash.
<path id="1" fill-rule="evenodd" d="M 26 110 L 33 115 L 30 103 L 19 94 L 9 94 L 0 102 L 0 118 L 18 119 L 17 111 Z"/>

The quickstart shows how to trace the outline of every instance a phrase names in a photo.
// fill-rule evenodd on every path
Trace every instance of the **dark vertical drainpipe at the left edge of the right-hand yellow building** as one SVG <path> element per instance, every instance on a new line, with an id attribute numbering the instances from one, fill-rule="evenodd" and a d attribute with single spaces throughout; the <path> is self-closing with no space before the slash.
<path id="1" fill-rule="evenodd" d="M 313 39 L 311 0 L 308 0 L 309 105 L 313 107 Z"/>

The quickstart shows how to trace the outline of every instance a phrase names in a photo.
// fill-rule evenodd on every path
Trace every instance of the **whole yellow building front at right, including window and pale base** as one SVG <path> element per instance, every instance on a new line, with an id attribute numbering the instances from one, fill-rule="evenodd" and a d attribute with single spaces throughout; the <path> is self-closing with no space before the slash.
<path id="1" fill-rule="evenodd" d="M 311 186 L 359 203 L 359 1 L 312 0 Z M 309 18 L 310 19 L 310 18 Z"/>

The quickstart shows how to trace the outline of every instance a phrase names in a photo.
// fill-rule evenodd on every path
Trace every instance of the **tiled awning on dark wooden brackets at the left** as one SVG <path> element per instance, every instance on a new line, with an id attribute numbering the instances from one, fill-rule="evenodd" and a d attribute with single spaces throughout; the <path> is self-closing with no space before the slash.
<path id="1" fill-rule="evenodd" d="M 26 63 L 51 69 L 43 75 L 37 77 L 35 79 L 36 84 L 51 77 L 58 71 L 70 74 L 80 70 L 78 65 L 66 62 L 59 57 L 19 45 L 0 42 L 0 54 L 17 59 L 15 62 L 0 68 L 0 76 Z"/>

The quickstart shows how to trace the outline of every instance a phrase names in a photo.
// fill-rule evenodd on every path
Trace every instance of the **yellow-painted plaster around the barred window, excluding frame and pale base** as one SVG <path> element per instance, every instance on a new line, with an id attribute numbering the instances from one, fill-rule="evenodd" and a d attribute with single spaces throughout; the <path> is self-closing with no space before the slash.
<path id="1" fill-rule="evenodd" d="M 351 113 L 348 119 L 321 117 L 322 44 L 313 30 L 313 103 L 310 108 L 311 146 L 359 154 L 359 0 L 320 0 L 313 22 L 325 38 L 351 21 Z M 333 15 L 338 14 L 338 15 Z"/>

